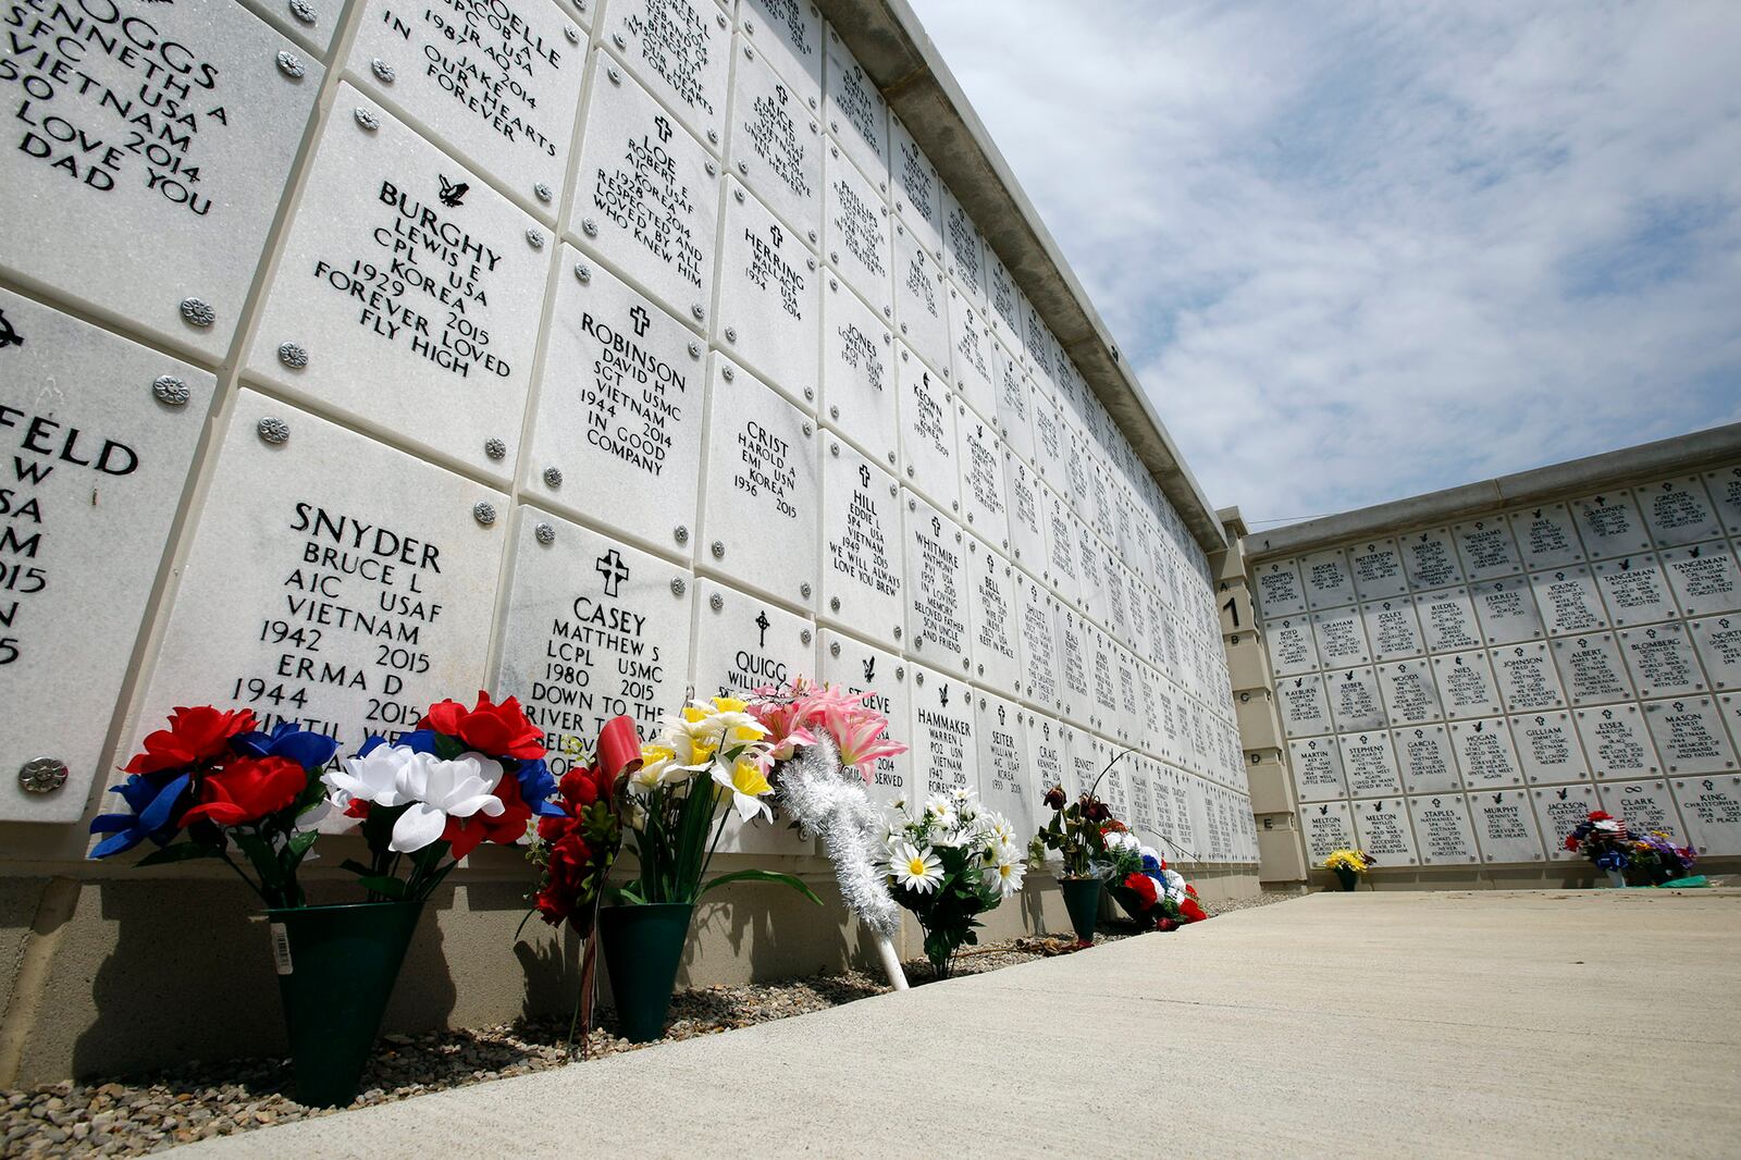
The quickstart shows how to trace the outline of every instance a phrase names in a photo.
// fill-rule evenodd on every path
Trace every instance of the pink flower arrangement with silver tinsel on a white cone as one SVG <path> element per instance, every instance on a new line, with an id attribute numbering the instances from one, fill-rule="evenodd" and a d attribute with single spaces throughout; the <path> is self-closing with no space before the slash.
<path id="1" fill-rule="evenodd" d="M 877 758 L 907 747 L 888 737 L 888 718 L 870 707 L 872 698 L 796 678 L 757 688 L 749 712 L 768 730 L 766 761 L 780 808 L 822 838 L 841 899 L 870 932 L 890 984 L 904 991 L 907 977 L 895 953 L 900 907 L 884 876 L 881 812 L 865 787 Z"/>

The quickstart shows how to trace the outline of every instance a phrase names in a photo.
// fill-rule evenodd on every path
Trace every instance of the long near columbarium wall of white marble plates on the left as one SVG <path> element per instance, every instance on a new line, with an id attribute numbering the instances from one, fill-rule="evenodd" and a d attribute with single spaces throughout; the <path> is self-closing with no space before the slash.
<path id="1" fill-rule="evenodd" d="M 1123 751 L 1133 826 L 1255 888 L 1220 526 L 904 3 L 7 23 L 0 1082 L 280 1035 L 233 881 L 84 860 L 178 704 L 355 745 L 489 686 L 561 768 L 615 712 L 820 674 L 914 747 L 884 801 L 1031 827 Z M 729 848 L 832 897 L 810 840 Z M 517 853 L 453 881 L 390 1024 L 564 1010 Z M 991 927 L 1048 918 L 1032 876 Z M 862 953 L 839 906 L 738 888 L 686 972 Z"/>

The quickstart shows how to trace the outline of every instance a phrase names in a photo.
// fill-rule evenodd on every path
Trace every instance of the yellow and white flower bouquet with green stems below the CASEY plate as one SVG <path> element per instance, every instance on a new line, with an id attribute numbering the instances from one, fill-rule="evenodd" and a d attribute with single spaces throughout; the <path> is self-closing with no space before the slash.
<path id="1" fill-rule="evenodd" d="M 702 885 L 733 810 L 740 822 L 773 819 L 770 749 L 766 726 L 735 697 L 693 700 L 667 718 L 629 777 L 623 820 L 641 869 L 632 883 L 615 888 L 616 899 L 695 902 L 729 881 L 778 881 L 820 904 L 801 880 L 773 871 L 743 869 Z"/>

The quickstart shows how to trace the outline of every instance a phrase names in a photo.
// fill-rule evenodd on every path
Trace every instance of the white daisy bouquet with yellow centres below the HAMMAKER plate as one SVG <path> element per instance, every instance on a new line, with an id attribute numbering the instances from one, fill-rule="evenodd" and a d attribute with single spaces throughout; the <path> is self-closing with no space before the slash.
<path id="1" fill-rule="evenodd" d="M 897 803 L 884 846 L 888 887 L 924 928 L 924 956 L 938 979 L 963 946 L 978 942 L 978 916 L 1022 888 L 1027 873 L 1015 831 L 958 789 L 912 813 Z"/>

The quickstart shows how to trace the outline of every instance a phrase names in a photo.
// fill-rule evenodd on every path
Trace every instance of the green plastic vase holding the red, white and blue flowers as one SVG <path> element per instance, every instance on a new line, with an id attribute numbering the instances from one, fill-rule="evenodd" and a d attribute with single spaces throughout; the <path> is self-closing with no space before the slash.
<path id="1" fill-rule="evenodd" d="M 266 911 L 296 1103 L 343 1108 L 357 1099 L 421 916 L 421 900 Z"/>

